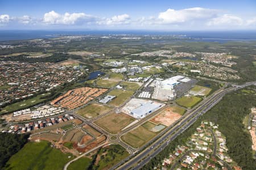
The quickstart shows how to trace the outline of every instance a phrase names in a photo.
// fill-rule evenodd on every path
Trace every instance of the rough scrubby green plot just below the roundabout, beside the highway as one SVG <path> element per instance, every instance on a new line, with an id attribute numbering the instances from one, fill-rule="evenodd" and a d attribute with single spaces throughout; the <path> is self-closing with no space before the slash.
<path id="1" fill-rule="evenodd" d="M 97 167 L 95 169 L 109 169 L 129 156 L 129 153 L 120 145 L 110 145 L 101 148 L 98 156 L 100 156 L 101 159 L 97 165 L 94 165 L 94 167 Z"/>

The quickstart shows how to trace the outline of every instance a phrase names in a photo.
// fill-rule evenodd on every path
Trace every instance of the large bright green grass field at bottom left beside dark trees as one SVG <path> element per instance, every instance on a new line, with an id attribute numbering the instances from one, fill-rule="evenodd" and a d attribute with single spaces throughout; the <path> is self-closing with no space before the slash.
<path id="1" fill-rule="evenodd" d="M 71 156 L 71 158 L 68 158 Z M 6 169 L 59 169 L 74 159 L 72 154 L 63 154 L 60 150 L 51 147 L 51 143 L 28 142 L 17 154 L 6 163 Z"/>

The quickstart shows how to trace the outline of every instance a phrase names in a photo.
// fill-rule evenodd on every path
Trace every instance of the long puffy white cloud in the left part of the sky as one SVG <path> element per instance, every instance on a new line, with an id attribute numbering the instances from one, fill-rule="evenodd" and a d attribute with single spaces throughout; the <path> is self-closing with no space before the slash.
<path id="1" fill-rule="evenodd" d="M 64 15 L 60 15 L 55 11 L 50 11 L 44 14 L 43 22 L 47 24 L 76 24 L 90 22 L 95 17 L 84 13 L 69 14 L 66 12 Z"/>

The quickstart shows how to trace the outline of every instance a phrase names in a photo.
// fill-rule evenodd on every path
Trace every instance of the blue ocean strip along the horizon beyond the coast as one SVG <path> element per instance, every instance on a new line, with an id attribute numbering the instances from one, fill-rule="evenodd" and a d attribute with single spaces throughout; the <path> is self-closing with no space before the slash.
<path id="1" fill-rule="evenodd" d="M 256 41 L 256 31 L 40 31 L 4 30 L 0 31 L 0 41 L 47 39 L 67 35 L 186 35 L 196 41 Z"/>

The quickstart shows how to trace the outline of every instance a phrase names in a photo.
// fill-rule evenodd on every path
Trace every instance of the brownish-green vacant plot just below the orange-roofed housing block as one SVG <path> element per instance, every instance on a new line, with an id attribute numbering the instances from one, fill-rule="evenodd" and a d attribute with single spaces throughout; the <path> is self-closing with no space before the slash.
<path id="1" fill-rule="evenodd" d="M 86 118 L 93 118 L 97 117 L 101 114 L 107 113 L 111 110 L 110 107 L 102 104 L 89 104 L 86 107 L 79 109 L 77 111 L 77 114 L 80 114 L 83 117 Z"/>

